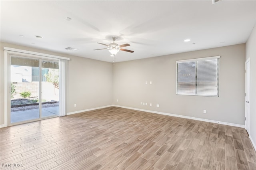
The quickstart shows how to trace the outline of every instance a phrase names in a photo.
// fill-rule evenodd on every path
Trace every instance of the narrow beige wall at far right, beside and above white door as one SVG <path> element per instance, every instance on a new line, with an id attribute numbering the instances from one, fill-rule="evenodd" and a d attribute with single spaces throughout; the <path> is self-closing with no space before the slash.
<path id="1" fill-rule="evenodd" d="M 246 60 L 250 58 L 250 132 L 249 136 L 256 144 L 256 28 L 254 26 L 246 42 Z"/>

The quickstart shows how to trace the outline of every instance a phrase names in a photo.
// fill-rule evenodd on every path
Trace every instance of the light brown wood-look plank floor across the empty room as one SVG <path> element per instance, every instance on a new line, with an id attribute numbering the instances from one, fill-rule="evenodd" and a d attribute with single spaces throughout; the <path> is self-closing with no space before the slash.
<path id="1" fill-rule="evenodd" d="M 244 128 L 118 107 L 0 130 L 3 170 L 256 170 Z"/>

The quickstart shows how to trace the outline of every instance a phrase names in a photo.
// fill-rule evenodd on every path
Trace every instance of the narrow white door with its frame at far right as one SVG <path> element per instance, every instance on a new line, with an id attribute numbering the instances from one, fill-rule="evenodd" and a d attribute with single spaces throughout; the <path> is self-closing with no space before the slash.
<path id="1" fill-rule="evenodd" d="M 249 64 L 249 69 L 247 68 L 247 63 Z M 247 79 L 247 74 L 249 74 L 249 79 Z M 249 83 L 249 84 L 248 84 Z M 248 88 L 247 88 L 248 86 Z M 250 58 L 248 58 L 246 61 L 245 61 L 245 94 L 246 96 L 249 95 L 249 102 L 250 102 L 250 94 L 247 94 L 247 90 L 249 90 L 250 92 Z M 248 134 L 250 134 L 250 103 L 249 103 L 249 108 L 246 107 L 246 105 L 248 105 L 246 103 L 246 96 L 245 96 L 245 100 L 244 100 L 244 103 L 245 103 L 245 118 L 246 120 L 244 121 L 244 127 L 245 129 L 247 130 Z M 247 114 L 248 112 L 248 114 Z"/>

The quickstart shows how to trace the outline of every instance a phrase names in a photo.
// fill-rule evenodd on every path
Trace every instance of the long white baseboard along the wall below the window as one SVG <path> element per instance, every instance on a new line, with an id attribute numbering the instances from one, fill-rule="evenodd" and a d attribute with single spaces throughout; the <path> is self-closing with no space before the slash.
<path id="1" fill-rule="evenodd" d="M 150 110 L 137 109 L 137 108 L 133 108 L 133 107 L 126 107 L 126 106 L 119 106 L 119 105 L 113 105 L 113 106 L 115 106 L 115 107 L 122 107 L 122 108 L 126 108 L 126 109 L 133 109 L 133 110 L 137 110 L 137 111 L 156 113 L 156 114 L 160 114 L 160 115 L 167 115 L 167 116 L 173 116 L 173 117 L 181 117 L 181 118 L 185 118 L 185 119 L 193 119 L 193 120 L 197 120 L 197 121 L 217 123 L 217 124 L 221 124 L 221 125 L 228 125 L 228 126 L 233 126 L 233 127 L 245 128 L 244 125 L 239 125 L 239 124 L 235 124 L 235 123 L 213 121 L 213 120 L 209 120 L 209 119 L 201 119 L 201 118 L 197 118 L 197 117 L 189 117 L 189 116 L 176 115 L 176 114 L 164 113 L 164 112 L 158 112 L 158 111 L 150 111 Z"/>

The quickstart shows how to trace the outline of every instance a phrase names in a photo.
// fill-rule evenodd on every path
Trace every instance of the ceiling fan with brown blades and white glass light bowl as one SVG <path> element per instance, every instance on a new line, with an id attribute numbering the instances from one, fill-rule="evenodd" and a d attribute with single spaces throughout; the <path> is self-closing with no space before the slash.
<path id="1" fill-rule="evenodd" d="M 129 52 L 129 53 L 134 52 L 134 51 L 128 50 L 128 49 L 122 49 L 122 47 L 130 46 L 130 44 L 125 43 L 125 44 L 122 44 L 122 45 L 118 45 L 117 43 L 115 43 L 116 37 L 112 37 L 112 40 L 113 40 L 113 43 L 110 43 L 109 45 L 104 44 L 104 43 L 99 43 L 99 44 L 108 46 L 108 48 L 101 48 L 101 49 L 108 49 L 108 51 L 111 53 L 112 57 L 114 57 L 120 50 Z M 100 49 L 94 49 L 94 50 L 100 50 Z"/>

